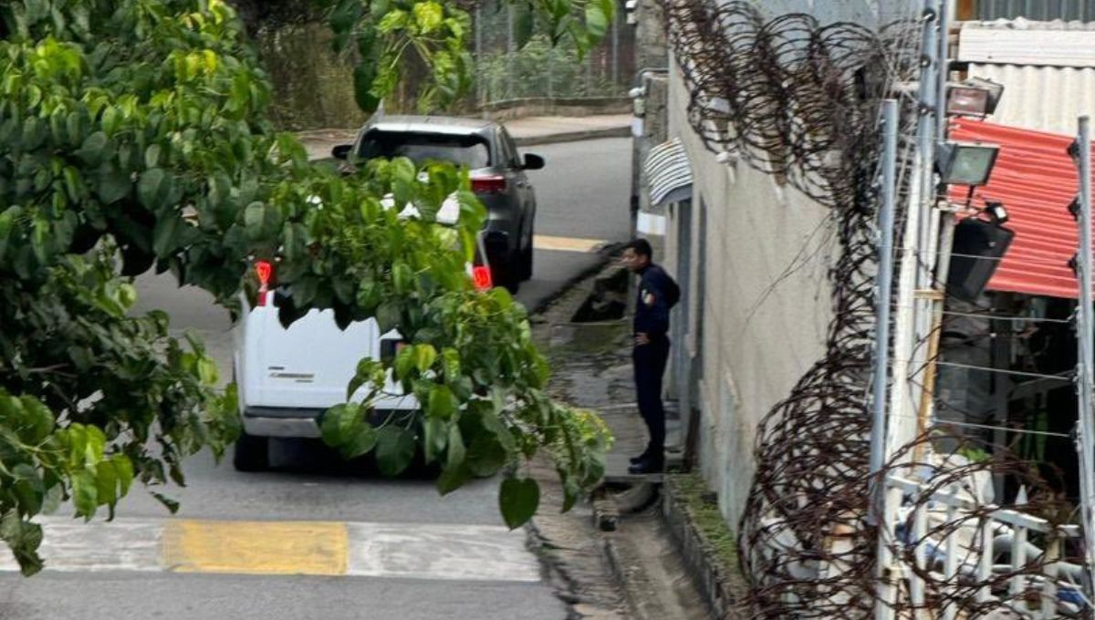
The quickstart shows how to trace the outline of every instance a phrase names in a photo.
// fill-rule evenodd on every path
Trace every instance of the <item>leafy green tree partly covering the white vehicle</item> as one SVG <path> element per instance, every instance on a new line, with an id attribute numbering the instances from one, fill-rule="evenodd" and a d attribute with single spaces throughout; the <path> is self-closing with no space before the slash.
<path id="1" fill-rule="evenodd" d="M 561 35 L 603 33 L 611 2 L 572 2 L 534 7 Z M 459 5 L 354 0 L 331 15 L 359 54 L 362 107 L 391 92 L 407 50 L 436 78 L 425 101 L 465 87 Z M 322 420 L 346 456 L 374 449 L 397 473 L 420 446 L 441 465 L 441 492 L 509 471 L 499 506 L 511 527 L 539 492 L 507 466 L 548 451 L 567 507 L 600 478 L 603 425 L 548 398 L 523 308 L 464 273 L 484 217 L 466 174 L 312 165 L 266 121 L 269 96 L 222 0 L 0 5 L 0 538 L 25 574 L 42 566 L 36 515 L 71 499 L 80 516 L 113 516 L 135 480 L 181 484 L 182 459 L 219 456 L 239 433 L 234 386 L 214 389 L 200 342 L 170 337 L 161 312 L 131 312 L 131 280 L 150 268 L 238 313 L 240 294 L 254 295 L 252 261 L 277 260 L 295 304 L 284 323 L 332 308 L 342 326 L 399 328 L 411 346 L 390 369 L 362 360 L 348 386 L 369 397 Z M 400 219 L 385 197 L 420 215 Z M 451 231 L 434 221 L 449 197 L 461 211 Z M 389 371 L 424 403 L 420 422 L 366 420 Z"/>

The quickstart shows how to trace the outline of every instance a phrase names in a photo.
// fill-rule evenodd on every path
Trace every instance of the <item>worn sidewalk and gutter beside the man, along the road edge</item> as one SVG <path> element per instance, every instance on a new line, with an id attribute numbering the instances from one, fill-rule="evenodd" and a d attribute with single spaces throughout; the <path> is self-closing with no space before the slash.
<path id="1" fill-rule="evenodd" d="M 714 571 L 705 568 L 706 558 L 715 551 L 726 554 L 726 540 L 717 541 L 721 547 L 712 546 L 703 539 L 698 543 L 690 535 L 699 500 L 698 495 L 683 496 L 679 489 L 695 477 L 667 475 L 661 484 L 626 472 L 629 457 L 642 452 L 646 443 L 632 379 L 631 324 L 630 318 L 572 323 L 592 288 L 590 279 L 560 297 L 537 316 L 534 334 L 552 362 L 552 396 L 596 410 L 615 436 L 606 471 L 611 484 L 591 502 L 558 514 L 562 493 L 555 473 L 549 464 L 537 463 L 531 473 L 544 500 L 533 520 L 533 534 L 549 565 L 562 577 L 572 617 L 736 618 L 733 599 L 737 597 L 727 587 L 727 582 L 735 581 L 734 569 L 725 562 Z M 679 446 L 680 424 L 676 419 L 668 422 L 667 443 Z M 670 447 L 669 460 L 677 460 L 675 456 Z M 661 493 L 665 499 L 659 499 Z"/>

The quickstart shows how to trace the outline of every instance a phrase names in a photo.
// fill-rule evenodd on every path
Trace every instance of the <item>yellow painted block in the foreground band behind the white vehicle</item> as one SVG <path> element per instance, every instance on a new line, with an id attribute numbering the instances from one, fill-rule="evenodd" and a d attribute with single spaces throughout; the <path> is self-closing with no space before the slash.
<path id="1" fill-rule="evenodd" d="M 346 524 L 172 520 L 163 561 L 181 573 L 344 575 Z"/>

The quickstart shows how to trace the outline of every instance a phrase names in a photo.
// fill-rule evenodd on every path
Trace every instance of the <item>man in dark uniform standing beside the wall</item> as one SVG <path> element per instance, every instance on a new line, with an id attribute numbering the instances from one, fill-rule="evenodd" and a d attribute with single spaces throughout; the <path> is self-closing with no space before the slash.
<path id="1" fill-rule="evenodd" d="M 664 269 L 652 262 L 653 250 L 646 239 L 629 243 L 622 262 L 639 276 L 635 304 L 632 362 L 635 366 L 635 391 L 638 411 L 646 422 L 650 441 L 639 456 L 631 459 L 631 473 L 655 473 L 665 467 L 666 410 L 661 406 L 661 375 L 669 359 L 669 308 L 680 292 Z"/>

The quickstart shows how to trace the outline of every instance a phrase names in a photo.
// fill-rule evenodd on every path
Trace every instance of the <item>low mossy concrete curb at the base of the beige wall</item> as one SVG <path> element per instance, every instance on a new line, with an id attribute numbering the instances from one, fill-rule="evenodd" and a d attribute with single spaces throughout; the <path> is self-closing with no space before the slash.
<path id="1" fill-rule="evenodd" d="M 689 576 L 699 587 L 712 616 L 721 620 L 747 618 L 741 608 L 745 580 L 715 555 L 684 508 L 671 477 L 667 477 L 661 487 L 661 515 L 677 542 Z"/>

